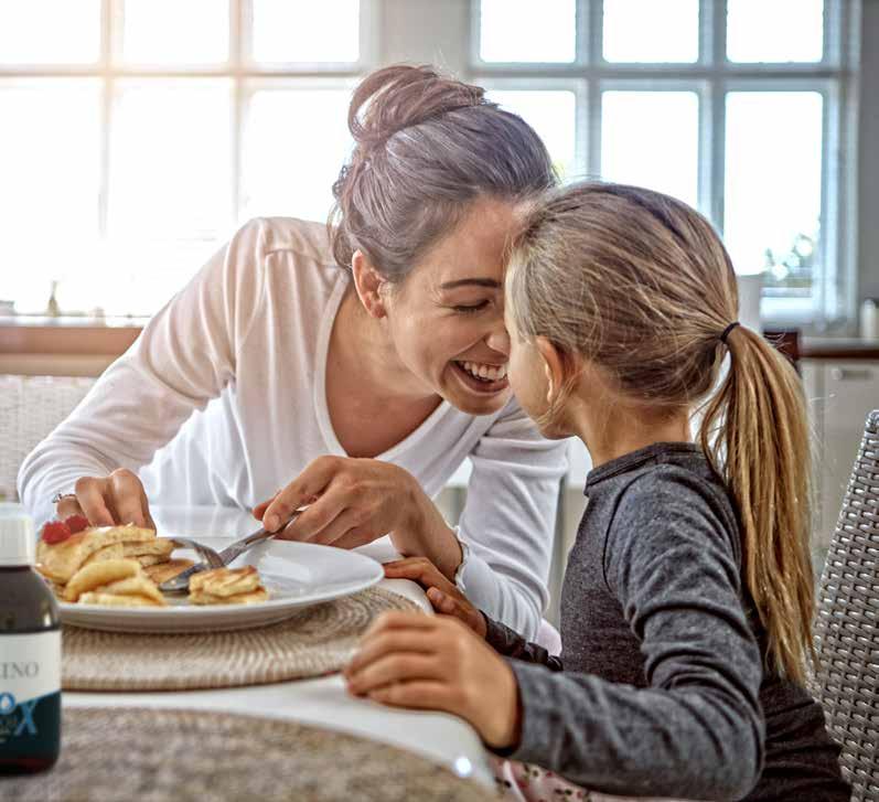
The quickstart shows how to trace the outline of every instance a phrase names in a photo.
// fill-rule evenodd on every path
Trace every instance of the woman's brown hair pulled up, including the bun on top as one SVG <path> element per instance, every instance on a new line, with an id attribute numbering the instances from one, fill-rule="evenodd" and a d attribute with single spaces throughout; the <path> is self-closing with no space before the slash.
<path id="1" fill-rule="evenodd" d="M 450 232 L 483 196 L 518 203 L 556 183 L 540 138 L 484 89 L 428 66 L 378 69 L 349 109 L 356 147 L 333 185 L 333 256 L 355 249 L 390 281 Z"/>

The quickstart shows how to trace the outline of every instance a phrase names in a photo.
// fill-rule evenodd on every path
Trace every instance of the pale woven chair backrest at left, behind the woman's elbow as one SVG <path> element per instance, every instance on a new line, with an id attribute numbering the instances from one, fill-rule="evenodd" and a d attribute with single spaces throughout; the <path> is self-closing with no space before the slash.
<path id="1" fill-rule="evenodd" d="M 0 375 L 0 501 L 18 500 L 22 461 L 94 384 L 94 378 Z"/>

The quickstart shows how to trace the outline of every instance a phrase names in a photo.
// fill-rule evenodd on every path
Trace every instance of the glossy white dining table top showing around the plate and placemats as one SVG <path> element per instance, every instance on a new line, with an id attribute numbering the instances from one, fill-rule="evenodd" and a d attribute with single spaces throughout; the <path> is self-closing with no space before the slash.
<path id="1" fill-rule="evenodd" d="M 151 510 L 160 536 L 180 535 L 237 539 L 258 527 L 239 509 L 214 506 L 156 506 Z M 388 563 L 399 558 L 390 538 L 383 537 L 356 549 Z M 405 597 L 432 614 L 425 591 L 405 579 L 382 579 L 378 587 Z M 149 660 L 149 655 L 143 655 Z M 479 787 L 494 789 L 485 749 L 476 731 L 463 719 L 439 712 L 392 708 L 351 696 L 340 673 L 314 678 L 238 687 L 185 691 L 65 691 L 63 709 L 117 708 L 187 709 L 204 714 L 244 714 L 265 719 L 296 721 L 373 742 L 388 745 L 430 761 Z"/>

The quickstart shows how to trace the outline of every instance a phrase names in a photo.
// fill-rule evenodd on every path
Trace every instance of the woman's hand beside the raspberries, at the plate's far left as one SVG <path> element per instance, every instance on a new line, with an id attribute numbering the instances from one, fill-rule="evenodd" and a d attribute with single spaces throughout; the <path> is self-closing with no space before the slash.
<path id="1" fill-rule="evenodd" d="M 63 496 L 55 506 L 60 518 L 85 515 L 93 526 L 135 524 L 154 530 L 150 505 L 137 474 L 120 468 L 109 477 L 81 477 L 74 495 Z"/>

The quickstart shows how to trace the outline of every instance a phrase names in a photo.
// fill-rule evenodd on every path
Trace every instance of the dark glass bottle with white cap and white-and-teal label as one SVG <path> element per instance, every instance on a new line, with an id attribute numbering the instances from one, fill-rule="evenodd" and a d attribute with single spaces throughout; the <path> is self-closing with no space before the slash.
<path id="1" fill-rule="evenodd" d="M 30 518 L 0 510 L 0 774 L 44 771 L 61 748 L 58 606 L 33 548 Z"/>

